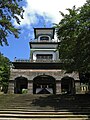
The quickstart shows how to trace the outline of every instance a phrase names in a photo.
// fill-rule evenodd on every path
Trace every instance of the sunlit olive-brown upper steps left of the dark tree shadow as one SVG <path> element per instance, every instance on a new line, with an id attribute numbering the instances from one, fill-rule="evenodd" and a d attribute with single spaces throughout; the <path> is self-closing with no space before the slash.
<path id="1" fill-rule="evenodd" d="M 2 94 L 0 95 L 0 109 L 37 109 L 32 103 L 41 95 Z"/>

